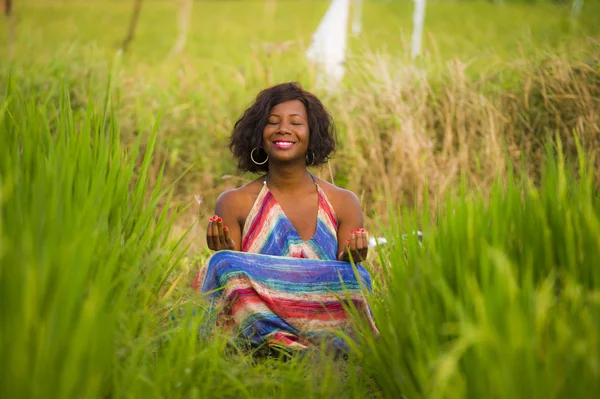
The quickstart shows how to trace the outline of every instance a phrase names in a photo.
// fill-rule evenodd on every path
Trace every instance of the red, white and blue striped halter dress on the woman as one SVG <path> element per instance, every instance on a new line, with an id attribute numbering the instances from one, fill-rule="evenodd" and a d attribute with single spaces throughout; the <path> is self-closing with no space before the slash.
<path id="1" fill-rule="evenodd" d="M 335 212 L 313 181 L 319 205 L 312 238 L 302 240 L 265 176 L 242 231 L 242 252 L 215 252 L 192 285 L 219 309 L 217 324 L 254 345 L 339 343 L 334 330 L 351 332 L 348 300 L 377 334 L 363 292 L 371 290 L 371 277 L 361 265 L 336 260 Z"/>

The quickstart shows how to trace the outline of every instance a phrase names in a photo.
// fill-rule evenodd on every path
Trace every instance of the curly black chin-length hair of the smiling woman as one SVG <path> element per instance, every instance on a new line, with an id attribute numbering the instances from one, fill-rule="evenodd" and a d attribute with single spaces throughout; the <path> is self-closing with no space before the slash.
<path id="1" fill-rule="evenodd" d="M 237 120 L 231 134 L 229 148 L 238 160 L 238 168 L 247 172 L 267 172 L 268 163 L 257 165 L 252 162 L 250 153 L 254 148 L 262 148 L 263 130 L 271 109 L 286 101 L 299 100 L 308 115 L 308 153 L 311 165 L 322 165 L 335 151 L 335 124 L 321 101 L 312 93 L 302 89 L 299 83 L 281 83 L 261 91 L 254 103 Z M 257 151 L 261 153 L 261 151 Z M 255 157 L 264 159 L 255 154 Z M 256 158 L 255 158 L 256 159 Z"/>

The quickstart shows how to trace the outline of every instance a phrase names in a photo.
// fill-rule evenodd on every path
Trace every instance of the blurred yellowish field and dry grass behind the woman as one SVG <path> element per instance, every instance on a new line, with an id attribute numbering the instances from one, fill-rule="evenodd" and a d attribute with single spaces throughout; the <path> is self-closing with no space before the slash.
<path id="1" fill-rule="evenodd" d="M 534 174 L 547 135 L 572 148 L 580 129 L 597 143 L 600 2 L 428 0 L 413 57 L 414 2 L 343 1 L 345 75 L 333 91 L 306 57 L 325 0 L 4 0 L 1 80 L 12 68 L 42 102 L 66 84 L 85 109 L 90 95 L 102 103 L 110 75 L 125 142 L 160 115 L 156 170 L 166 162 L 169 181 L 187 171 L 177 198 L 194 210 L 182 225 L 250 177 L 228 136 L 283 81 L 322 97 L 340 146 L 315 173 L 357 192 L 369 216 L 421 204 L 425 184 L 430 200 L 460 176 L 489 187 L 523 154 Z"/>

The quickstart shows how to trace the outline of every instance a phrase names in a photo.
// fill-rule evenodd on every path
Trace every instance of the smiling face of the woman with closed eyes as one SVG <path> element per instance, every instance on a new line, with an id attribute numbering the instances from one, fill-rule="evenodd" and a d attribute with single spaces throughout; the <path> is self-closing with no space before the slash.
<path id="1" fill-rule="evenodd" d="M 309 137 L 308 115 L 300 100 L 286 101 L 271 108 L 263 130 L 263 148 L 270 160 L 305 159 Z"/>

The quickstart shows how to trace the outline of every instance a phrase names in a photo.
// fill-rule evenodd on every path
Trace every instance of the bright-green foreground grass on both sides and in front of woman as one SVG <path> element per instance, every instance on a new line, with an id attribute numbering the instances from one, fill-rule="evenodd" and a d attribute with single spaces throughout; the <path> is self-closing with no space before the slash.
<path id="1" fill-rule="evenodd" d="M 347 361 L 284 362 L 198 334 L 199 264 L 166 240 L 176 215 L 156 213 L 168 192 L 149 182 L 154 133 L 126 152 L 109 108 L 77 117 L 65 91 L 49 116 L 8 87 L 2 397 L 600 394 L 600 200 L 584 154 L 575 174 L 549 146 L 539 187 L 509 177 L 489 200 L 449 195 L 435 222 L 401 210 L 372 265 L 381 337 L 365 333 Z M 403 241 L 417 227 L 423 244 Z"/>

